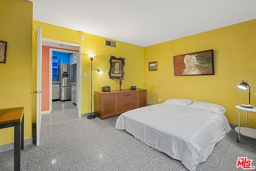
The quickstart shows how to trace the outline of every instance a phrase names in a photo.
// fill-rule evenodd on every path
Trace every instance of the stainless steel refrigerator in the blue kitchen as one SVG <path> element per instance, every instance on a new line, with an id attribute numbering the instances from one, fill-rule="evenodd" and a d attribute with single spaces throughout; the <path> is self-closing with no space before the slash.
<path id="1" fill-rule="evenodd" d="M 71 100 L 71 83 L 76 82 L 76 65 L 59 65 L 60 101 Z"/>

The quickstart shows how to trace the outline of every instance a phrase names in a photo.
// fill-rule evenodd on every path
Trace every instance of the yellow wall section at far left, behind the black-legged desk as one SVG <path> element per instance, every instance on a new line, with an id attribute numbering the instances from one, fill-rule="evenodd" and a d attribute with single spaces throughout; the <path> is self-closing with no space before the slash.
<path id="1" fill-rule="evenodd" d="M 0 40 L 7 42 L 0 63 L 0 109 L 24 106 L 24 138 L 31 138 L 32 2 L 1 0 Z M 0 145 L 14 142 L 14 127 L 0 129 Z"/>

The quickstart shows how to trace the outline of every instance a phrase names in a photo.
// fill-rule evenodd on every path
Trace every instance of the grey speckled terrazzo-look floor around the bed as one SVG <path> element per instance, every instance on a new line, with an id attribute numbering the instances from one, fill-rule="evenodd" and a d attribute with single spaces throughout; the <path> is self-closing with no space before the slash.
<path id="1" fill-rule="evenodd" d="M 187 171 L 180 161 L 144 145 L 129 133 L 115 129 L 117 117 L 78 118 L 70 101 L 53 102 L 53 111 L 42 115 L 41 144 L 21 152 L 22 171 Z M 256 166 L 256 139 L 230 131 L 197 171 L 242 171 L 238 157 Z M 12 171 L 14 150 L 0 153 L 0 171 Z M 256 170 L 256 169 L 253 169 Z"/>

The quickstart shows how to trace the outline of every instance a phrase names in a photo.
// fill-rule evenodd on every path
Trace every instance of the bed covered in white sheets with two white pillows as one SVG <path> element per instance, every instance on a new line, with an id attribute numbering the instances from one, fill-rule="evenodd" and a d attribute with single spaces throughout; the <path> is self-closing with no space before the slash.
<path id="1" fill-rule="evenodd" d="M 116 129 L 125 129 L 194 171 L 231 130 L 225 111 L 214 103 L 169 99 L 122 113 L 116 120 Z"/>

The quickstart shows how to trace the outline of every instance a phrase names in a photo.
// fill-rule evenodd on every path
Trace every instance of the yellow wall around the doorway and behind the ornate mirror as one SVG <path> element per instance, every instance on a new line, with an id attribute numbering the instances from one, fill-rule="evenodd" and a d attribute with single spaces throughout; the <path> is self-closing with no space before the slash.
<path id="1" fill-rule="evenodd" d="M 92 67 L 104 71 L 101 75 L 98 75 L 96 70 L 92 71 L 92 92 L 101 90 L 101 87 L 106 84 L 110 85 L 111 89 L 118 89 L 118 80 L 111 80 L 108 77 L 110 55 L 116 56 L 117 58 L 126 58 L 122 89 L 130 88 L 131 85 L 144 88 L 144 48 L 123 42 L 116 42 L 116 48 L 113 48 L 105 46 L 106 38 L 100 36 L 81 33 L 76 30 L 70 30 L 38 21 L 34 21 L 33 28 L 37 29 L 38 25 L 41 26 L 42 38 L 82 44 L 82 73 L 87 74 L 87 78 L 82 78 L 82 113 L 90 113 L 91 109 L 91 60 L 86 54 L 97 54 L 92 62 Z M 80 39 L 81 34 L 84 34 L 85 40 Z M 33 37 L 33 63 L 34 62 L 36 62 L 36 40 Z M 36 73 L 36 65 L 33 65 L 33 73 Z M 32 80 L 34 86 L 36 86 L 36 75 L 33 75 Z M 33 101 L 35 101 L 35 99 Z M 93 105 L 94 104 L 92 104 L 92 106 Z M 35 110 L 36 108 L 33 109 L 33 111 Z M 92 111 L 94 111 L 93 107 Z M 36 122 L 35 116 L 32 122 Z"/>

